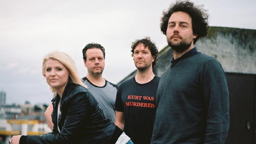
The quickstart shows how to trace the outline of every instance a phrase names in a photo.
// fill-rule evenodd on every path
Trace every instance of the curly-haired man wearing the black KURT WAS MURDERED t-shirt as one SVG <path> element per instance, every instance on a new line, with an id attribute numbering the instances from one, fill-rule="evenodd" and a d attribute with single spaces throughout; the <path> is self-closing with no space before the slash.
<path id="1" fill-rule="evenodd" d="M 149 144 L 156 113 L 155 96 L 160 79 L 152 71 L 158 60 L 158 50 L 151 39 L 145 37 L 132 43 L 131 52 L 137 74 L 118 87 L 115 124 L 124 130 L 134 144 Z"/>

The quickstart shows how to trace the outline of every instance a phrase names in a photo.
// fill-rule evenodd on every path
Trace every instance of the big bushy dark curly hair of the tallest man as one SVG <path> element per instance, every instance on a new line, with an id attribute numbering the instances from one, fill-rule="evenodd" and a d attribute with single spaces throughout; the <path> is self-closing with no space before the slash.
<path id="1" fill-rule="evenodd" d="M 168 21 L 173 13 L 179 11 L 185 12 L 192 18 L 193 34 L 197 35 L 194 39 L 194 44 L 196 44 L 199 38 L 203 38 L 207 35 L 209 29 L 209 15 L 206 13 L 208 10 L 203 9 L 202 6 L 194 6 L 194 3 L 189 1 L 177 1 L 175 4 L 172 4 L 167 12 L 163 11 L 163 17 L 160 23 L 162 33 L 166 35 Z"/>

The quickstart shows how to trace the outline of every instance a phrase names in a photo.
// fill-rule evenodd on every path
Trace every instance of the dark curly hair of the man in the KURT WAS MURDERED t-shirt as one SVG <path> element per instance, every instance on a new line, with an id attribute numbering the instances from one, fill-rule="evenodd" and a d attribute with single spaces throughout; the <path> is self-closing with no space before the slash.
<path id="1" fill-rule="evenodd" d="M 134 53 L 134 49 L 136 48 L 137 45 L 143 44 L 145 47 L 148 46 L 148 49 L 150 49 L 151 55 L 155 58 L 155 60 L 152 63 L 152 68 L 156 65 L 156 61 L 158 60 L 158 48 L 156 47 L 156 44 L 151 41 L 150 37 L 145 37 L 143 39 L 136 39 L 135 42 L 132 43 L 132 57 Z"/>

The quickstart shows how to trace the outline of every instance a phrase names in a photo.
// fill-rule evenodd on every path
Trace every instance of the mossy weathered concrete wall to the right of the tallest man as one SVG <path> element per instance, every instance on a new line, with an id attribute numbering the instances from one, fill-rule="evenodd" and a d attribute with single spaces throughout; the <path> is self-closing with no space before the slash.
<path id="1" fill-rule="evenodd" d="M 195 46 L 215 57 L 225 72 L 256 74 L 256 30 L 210 27 Z"/>

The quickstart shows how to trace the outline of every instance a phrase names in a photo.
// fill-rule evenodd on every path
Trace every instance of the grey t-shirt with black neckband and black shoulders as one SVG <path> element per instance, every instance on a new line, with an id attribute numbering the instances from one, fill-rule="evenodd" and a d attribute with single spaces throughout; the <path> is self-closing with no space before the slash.
<path id="1" fill-rule="evenodd" d="M 92 93 L 104 115 L 115 122 L 115 98 L 118 86 L 105 80 L 103 87 L 93 85 L 86 77 L 82 78 L 87 89 Z"/>

